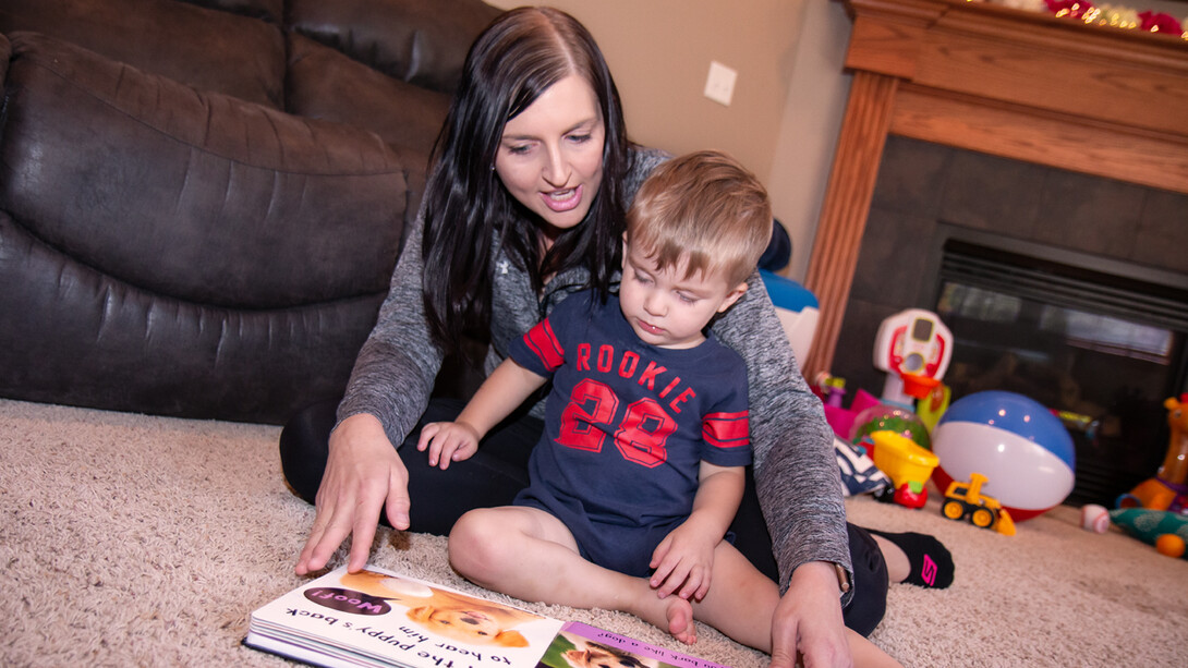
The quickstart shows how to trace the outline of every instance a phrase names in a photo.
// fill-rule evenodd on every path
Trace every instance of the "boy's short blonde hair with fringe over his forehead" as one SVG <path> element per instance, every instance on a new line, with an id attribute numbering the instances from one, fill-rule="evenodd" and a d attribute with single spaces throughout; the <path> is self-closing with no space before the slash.
<path id="1" fill-rule="evenodd" d="M 627 244 L 661 269 L 688 261 L 685 277 L 744 283 L 771 241 L 771 203 L 759 179 L 720 151 L 672 158 L 639 187 L 627 212 Z"/>

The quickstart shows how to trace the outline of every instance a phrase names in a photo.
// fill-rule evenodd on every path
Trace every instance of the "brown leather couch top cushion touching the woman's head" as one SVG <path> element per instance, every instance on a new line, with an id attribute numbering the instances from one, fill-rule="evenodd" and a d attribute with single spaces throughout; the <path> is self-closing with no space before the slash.
<path id="1" fill-rule="evenodd" d="M 453 93 L 500 10 L 479 0 L 290 0 L 289 27 L 388 76 Z"/>

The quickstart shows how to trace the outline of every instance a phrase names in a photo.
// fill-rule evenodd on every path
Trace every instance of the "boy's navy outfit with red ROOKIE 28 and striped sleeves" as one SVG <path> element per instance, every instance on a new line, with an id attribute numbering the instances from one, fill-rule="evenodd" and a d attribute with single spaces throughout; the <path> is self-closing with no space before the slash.
<path id="1" fill-rule="evenodd" d="M 565 298 L 510 351 L 552 379 L 531 485 L 517 503 L 535 499 L 580 546 L 586 524 L 674 528 L 693 510 L 702 460 L 751 462 L 742 359 L 713 336 L 685 349 L 651 346 L 617 297 L 592 301 Z"/>

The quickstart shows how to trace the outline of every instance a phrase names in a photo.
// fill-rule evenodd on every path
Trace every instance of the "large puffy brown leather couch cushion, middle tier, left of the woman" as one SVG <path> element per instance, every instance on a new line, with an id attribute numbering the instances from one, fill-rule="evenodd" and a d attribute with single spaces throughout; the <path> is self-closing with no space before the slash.
<path id="1" fill-rule="evenodd" d="M 10 37 L 0 208 L 38 239 L 200 304 L 386 290 L 409 188 L 375 134 Z"/>

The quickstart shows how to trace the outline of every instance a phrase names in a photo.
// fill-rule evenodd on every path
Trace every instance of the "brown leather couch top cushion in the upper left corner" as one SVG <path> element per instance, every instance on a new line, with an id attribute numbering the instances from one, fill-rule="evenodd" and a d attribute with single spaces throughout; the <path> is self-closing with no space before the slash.
<path id="1" fill-rule="evenodd" d="M 137 69 L 283 107 L 280 27 L 176 0 L 4 0 L 0 32 L 34 31 Z"/>

